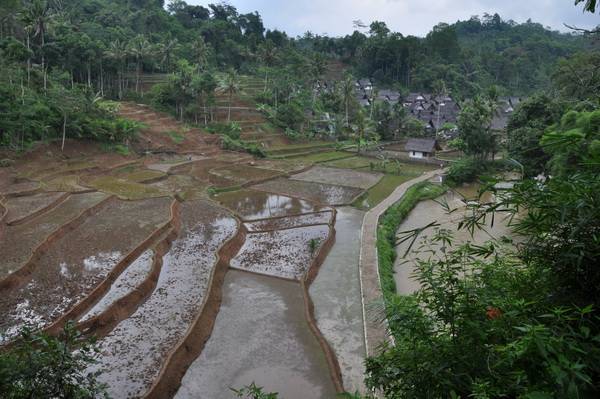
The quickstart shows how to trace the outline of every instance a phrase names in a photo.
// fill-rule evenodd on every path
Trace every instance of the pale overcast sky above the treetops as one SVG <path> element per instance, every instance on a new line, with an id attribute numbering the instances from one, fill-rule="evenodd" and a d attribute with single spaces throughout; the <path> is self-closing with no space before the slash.
<path id="1" fill-rule="evenodd" d="M 189 4 L 219 0 L 187 0 Z M 296 36 L 310 30 L 332 36 L 352 33 L 352 21 L 385 21 L 393 31 L 424 36 L 438 22 L 456 22 L 471 15 L 498 13 L 503 19 L 531 18 L 561 31 L 563 23 L 582 28 L 600 25 L 600 15 L 583 13 L 574 0 L 230 0 L 240 13 L 258 11 L 269 29 Z"/>

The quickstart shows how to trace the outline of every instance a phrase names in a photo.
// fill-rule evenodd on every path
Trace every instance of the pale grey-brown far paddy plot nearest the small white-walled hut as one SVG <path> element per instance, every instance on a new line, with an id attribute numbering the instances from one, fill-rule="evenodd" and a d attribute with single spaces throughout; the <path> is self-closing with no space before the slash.
<path id="1" fill-rule="evenodd" d="M 366 190 L 377 184 L 382 177 L 383 174 L 381 173 L 313 166 L 305 172 L 295 174 L 292 179 L 325 184 L 343 184 L 344 186 Z"/>

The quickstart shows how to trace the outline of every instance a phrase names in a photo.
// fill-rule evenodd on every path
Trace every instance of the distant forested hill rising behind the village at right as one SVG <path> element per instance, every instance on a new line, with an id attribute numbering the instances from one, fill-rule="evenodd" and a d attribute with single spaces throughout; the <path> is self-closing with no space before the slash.
<path id="1" fill-rule="evenodd" d="M 443 80 L 463 98 L 490 85 L 514 95 L 547 88 L 557 59 L 592 46 L 583 35 L 551 31 L 531 20 L 504 21 L 497 14 L 441 23 L 425 38 L 403 36 L 373 22 L 367 34 L 355 31 L 319 45 L 336 51 L 363 75 L 426 91 Z"/>

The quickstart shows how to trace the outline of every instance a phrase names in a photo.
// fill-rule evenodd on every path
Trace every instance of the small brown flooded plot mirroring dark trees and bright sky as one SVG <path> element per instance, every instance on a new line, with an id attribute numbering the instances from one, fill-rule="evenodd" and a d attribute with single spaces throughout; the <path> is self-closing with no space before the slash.
<path id="1" fill-rule="evenodd" d="M 221 193 L 213 199 L 245 220 L 297 215 L 323 209 L 306 200 L 255 190 Z"/>

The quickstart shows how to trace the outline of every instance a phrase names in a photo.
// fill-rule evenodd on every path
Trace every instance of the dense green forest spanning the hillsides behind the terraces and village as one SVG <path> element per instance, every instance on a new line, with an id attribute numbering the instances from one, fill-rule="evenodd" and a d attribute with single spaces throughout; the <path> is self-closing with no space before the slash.
<path id="1" fill-rule="evenodd" d="M 234 77 L 264 77 L 264 95 L 253 100 L 291 137 L 302 137 L 298 132 L 310 131 L 311 119 L 325 112 L 336 119 L 329 130 L 338 138 L 387 138 L 389 127 L 399 125 L 421 135 L 422 126 L 401 109 L 373 104 L 361 113 L 350 77 L 315 95 L 327 63 L 339 59 L 354 76 L 403 93 L 443 86 L 465 99 L 492 85 L 506 95 L 551 89 L 557 61 L 593 46 L 583 34 L 498 15 L 439 24 L 425 38 L 390 32 L 382 22 L 343 38 L 291 38 L 265 29 L 257 12 L 241 14 L 227 3 L 10 0 L 0 7 L 0 143 L 24 148 L 61 136 L 127 140 L 135 126 L 116 119 L 103 100 L 141 97 L 146 73 L 172 74 L 168 87 L 156 88 L 146 102 L 207 121 L 215 94 L 228 90 L 224 74 L 230 69 Z M 229 89 L 239 94 L 239 76 L 234 80 Z"/>

